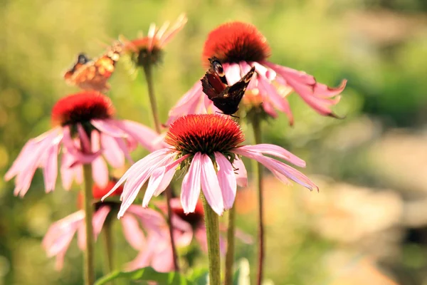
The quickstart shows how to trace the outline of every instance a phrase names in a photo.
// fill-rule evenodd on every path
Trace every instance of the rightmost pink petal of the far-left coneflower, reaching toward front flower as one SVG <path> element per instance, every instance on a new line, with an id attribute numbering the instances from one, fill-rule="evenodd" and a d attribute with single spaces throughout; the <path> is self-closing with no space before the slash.
<path id="1" fill-rule="evenodd" d="M 152 143 L 156 140 L 158 134 L 154 130 L 131 120 L 110 120 L 110 123 L 137 140 L 145 149 L 150 152 L 155 150 Z"/>

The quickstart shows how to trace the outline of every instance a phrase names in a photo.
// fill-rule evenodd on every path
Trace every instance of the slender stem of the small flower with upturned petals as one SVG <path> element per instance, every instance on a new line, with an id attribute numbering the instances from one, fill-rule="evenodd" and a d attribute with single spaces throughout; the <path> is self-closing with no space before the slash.
<path id="1" fill-rule="evenodd" d="M 147 80 L 149 103 L 152 109 L 154 129 L 156 130 L 157 133 L 161 133 L 162 128 L 160 126 L 159 111 L 157 110 L 156 96 L 154 95 L 152 64 L 147 63 L 147 64 L 144 64 L 143 67 L 144 67 L 145 79 Z M 176 254 L 174 228 L 172 225 L 172 208 L 171 208 L 172 191 L 173 191 L 172 185 L 169 185 L 169 187 L 167 187 L 165 190 L 166 204 L 167 204 L 167 224 L 169 225 L 169 238 L 171 239 L 172 255 L 174 258 L 174 269 L 175 271 L 179 271 L 178 254 Z"/>

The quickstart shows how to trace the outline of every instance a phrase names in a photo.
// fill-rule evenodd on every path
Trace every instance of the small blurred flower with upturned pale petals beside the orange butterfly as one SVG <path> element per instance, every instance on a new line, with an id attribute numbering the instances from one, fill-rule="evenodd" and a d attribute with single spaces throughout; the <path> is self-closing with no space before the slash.
<path id="1" fill-rule="evenodd" d="M 186 16 L 183 14 L 179 16 L 175 24 L 170 28 L 169 22 L 164 23 L 160 28 L 153 23 L 149 26 L 147 36 L 141 35 L 132 41 L 121 38 L 125 43 L 125 51 L 130 53 L 132 61 L 137 66 L 158 63 L 162 58 L 164 46 L 174 38 L 176 33 L 184 28 L 186 21 Z"/>

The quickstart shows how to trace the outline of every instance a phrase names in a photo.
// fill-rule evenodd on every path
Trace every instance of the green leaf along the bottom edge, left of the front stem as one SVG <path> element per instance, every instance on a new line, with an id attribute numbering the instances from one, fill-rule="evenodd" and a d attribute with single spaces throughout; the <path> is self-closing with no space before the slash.
<path id="1" fill-rule="evenodd" d="M 95 285 L 107 284 L 115 279 L 126 279 L 132 281 L 157 281 L 162 285 L 194 285 L 185 276 L 176 272 L 157 272 L 152 267 L 144 267 L 135 271 L 114 271 L 103 276 L 95 282 Z"/>

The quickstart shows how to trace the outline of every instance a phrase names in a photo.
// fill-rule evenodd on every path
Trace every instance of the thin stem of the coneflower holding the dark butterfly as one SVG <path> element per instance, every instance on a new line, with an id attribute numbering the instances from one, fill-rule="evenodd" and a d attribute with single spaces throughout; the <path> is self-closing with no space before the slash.
<path id="1" fill-rule="evenodd" d="M 261 128 L 260 120 L 254 117 L 252 120 L 253 136 L 255 138 L 255 145 L 261 143 Z M 257 283 L 261 284 L 263 281 L 263 267 L 265 255 L 265 242 L 264 242 L 264 209 L 263 209 L 263 165 L 253 160 L 253 171 L 255 172 L 255 185 L 258 190 L 258 275 Z"/>

